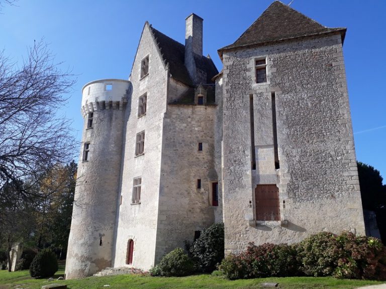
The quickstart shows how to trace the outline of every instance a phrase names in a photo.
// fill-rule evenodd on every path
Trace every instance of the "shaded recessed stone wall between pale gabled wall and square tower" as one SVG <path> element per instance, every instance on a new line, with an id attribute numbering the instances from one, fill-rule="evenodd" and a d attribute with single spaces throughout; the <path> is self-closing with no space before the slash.
<path id="1" fill-rule="evenodd" d="M 211 204 L 212 182 L 219 180 L 214 159 L 215 113 L 213 105 L 168 105 L 163 122 L 156 262 L 174 248 L 184 248 L 184 241 L 192 242 L 195 231 L 212 225 L 221 210 Z"/>

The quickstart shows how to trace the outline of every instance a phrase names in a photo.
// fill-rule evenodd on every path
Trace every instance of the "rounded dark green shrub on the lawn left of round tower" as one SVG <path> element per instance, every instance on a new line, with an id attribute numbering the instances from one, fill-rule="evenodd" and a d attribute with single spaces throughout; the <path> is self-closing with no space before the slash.
<path id="1" fill-rule="evenodd" d="M 58 260 L 55 253 L 49 249 L 43 249 L 33 259 L 30 266 L 31 277 L 49 277 L 58 270 Z"/>

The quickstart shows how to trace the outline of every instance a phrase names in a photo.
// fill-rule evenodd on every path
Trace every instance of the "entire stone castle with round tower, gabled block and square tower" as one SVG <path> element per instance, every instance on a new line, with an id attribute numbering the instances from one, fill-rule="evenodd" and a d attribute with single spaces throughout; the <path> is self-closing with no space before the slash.
<path id="1" fill-rule="evenodd" d="M 226 253 L 365 234 L 345 32 L 275 1 L 219 49 L 219 73 L 202 18 L 186 18 L 185 45 L 146 22 L 129 80 L 82 89 L 66 277 L 149 269 L 215 222 Z"/>

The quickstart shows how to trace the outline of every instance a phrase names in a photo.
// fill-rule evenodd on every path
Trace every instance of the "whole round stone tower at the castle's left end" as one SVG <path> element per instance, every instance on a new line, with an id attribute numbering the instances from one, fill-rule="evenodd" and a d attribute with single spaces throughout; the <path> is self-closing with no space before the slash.
<path id="1" fill-rule="evenodd" d="M 119 200 L 128 80 L 103 79 L 82 89 L 84 118 L 66 278 L 92 275 L 112 265 Z"/>

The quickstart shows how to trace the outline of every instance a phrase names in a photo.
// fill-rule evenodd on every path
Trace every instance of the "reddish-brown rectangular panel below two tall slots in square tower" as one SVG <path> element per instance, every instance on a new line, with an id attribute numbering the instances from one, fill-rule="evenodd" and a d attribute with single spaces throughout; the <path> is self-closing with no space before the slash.
<path id="1" fill-rule="evenodd" d="M 280 221 L 279 188 L 276 185 L 257 185 L 255 209 L 257 221 Z"/>

